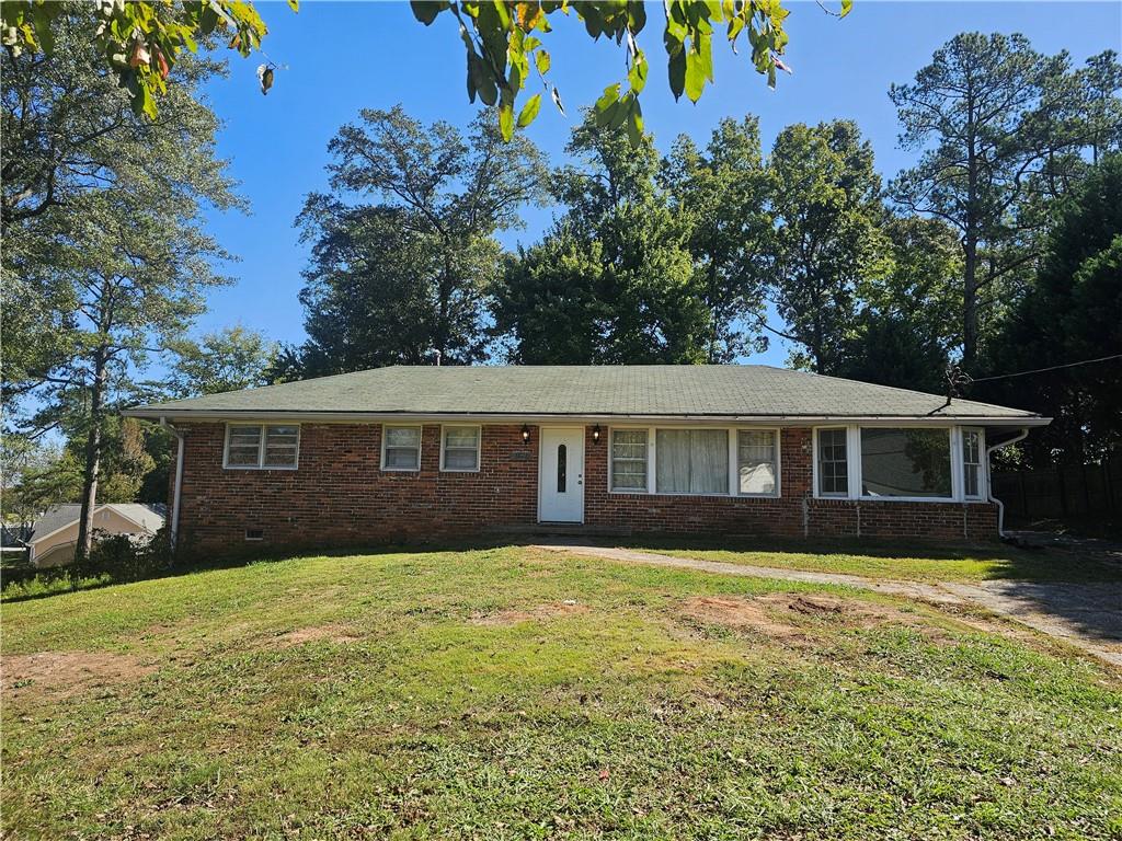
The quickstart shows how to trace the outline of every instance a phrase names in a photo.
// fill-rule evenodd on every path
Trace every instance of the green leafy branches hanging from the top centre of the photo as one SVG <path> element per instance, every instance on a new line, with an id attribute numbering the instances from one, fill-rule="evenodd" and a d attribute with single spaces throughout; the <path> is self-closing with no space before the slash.
<path id="1" fill-rule="evenodd" d="M 552 56 L 542 37 L 552 30 L 551 16 L 576 17 L 594 39 L 607 36 L 627 47 L 626 80 L 608 85 L 596 102 L 596 120 L 601 127 L 627 127 L 632 144 L 643 133 L 643 110 L 638 96 L 646 86 L 650 62 L 638 46 L 646 27 L 646 7 L 634 0 L 539 0 L 502 2 L 493 0 L 413 0 L 413 15 L 425 26 L 441 12 L 452 15 L 460 26 L 467 50 L 468 98 L 478 96 L 487 105 L 498 105 L 498 122 L 507 140 L 515 123 L 528 126 L 537 117 L 542 93 L 534 93 L 518 111 L 515 101 L 534 73 L 558 110 L 564 113 L 561 94 L 548 78 Z M 775 71 L 788 70 L 779 58 L 787 46 L 783 20 L 788 11 L 782 0 L 665 0 L 662 41 L 666 50 L 670 90 L 674 99 L 684 93 L 691 102 L 701 98 L 707 82 L 714 81 L 712 36 L 724 29 L 733 52 L 742 35 L 752 46 L 756 71 L 775 85 Z M 846 15 L 852 0 L 843 0 Z M 555 19 L 555 18 L 554 18 Z"/>

